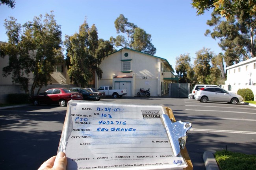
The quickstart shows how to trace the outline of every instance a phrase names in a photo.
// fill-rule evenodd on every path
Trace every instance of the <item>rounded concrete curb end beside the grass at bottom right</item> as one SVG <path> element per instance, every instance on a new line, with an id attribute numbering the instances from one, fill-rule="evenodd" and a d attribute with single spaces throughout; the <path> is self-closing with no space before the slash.
<path id="1" fill-rule="evenodd" d="M 206 151 L 203 154 L 204 165 L 206 170 L 219 170 L 219 166 L 213 155 L 214 153 L 215 151 Z"/>

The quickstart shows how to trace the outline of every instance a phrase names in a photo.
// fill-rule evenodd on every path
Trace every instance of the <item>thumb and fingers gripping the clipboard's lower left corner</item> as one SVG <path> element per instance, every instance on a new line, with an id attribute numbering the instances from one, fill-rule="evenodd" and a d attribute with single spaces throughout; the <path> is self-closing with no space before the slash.
<path id="1" fill-rule="evenodd" d="M 64 152 L 59 152 L 57 156 L 53 156 L 45 161 L 38 170 L 66 170 L 67 157 Z"/>

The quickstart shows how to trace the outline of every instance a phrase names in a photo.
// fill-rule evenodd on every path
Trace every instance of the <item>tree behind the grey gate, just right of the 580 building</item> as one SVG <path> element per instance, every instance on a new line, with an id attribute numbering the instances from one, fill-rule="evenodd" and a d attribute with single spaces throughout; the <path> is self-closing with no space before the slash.
<path id="1" fill-rule="evenodd" d="M 190 83 L 189 77 L 191 75 L 191 58 L 189 54 L 183 54 L 179 57 L 176 57 L 176 73 L 179 76 L 180 83 Z"/>

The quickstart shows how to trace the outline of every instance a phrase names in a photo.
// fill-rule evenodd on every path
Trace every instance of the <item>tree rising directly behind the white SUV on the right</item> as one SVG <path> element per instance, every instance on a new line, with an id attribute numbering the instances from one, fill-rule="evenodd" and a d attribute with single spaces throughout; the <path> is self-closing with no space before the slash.
<path id="1" fill-rule="evenodd" d="M 196 56 L 193 68 L 195 77 L 197 77 L 199 84 L 207 84 L 207 76 L 210 75 L 210 62 L 211 58 L 213 58 L 213 52 L 208 48 L 203 48 L 196 52 Z"/>

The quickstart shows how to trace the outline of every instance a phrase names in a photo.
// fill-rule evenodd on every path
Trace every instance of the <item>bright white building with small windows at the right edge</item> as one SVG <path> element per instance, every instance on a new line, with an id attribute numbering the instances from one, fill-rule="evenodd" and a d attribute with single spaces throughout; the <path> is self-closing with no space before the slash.
<path id="1" fill-rule="evenodd" d="M 224 88 L 237 93 L 237 90 L 249 88 L 256 95 L 256 57 L 239 62 L 226 68 L 227 80 Z"/>

